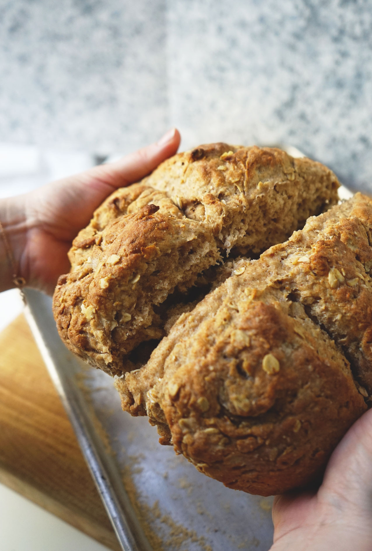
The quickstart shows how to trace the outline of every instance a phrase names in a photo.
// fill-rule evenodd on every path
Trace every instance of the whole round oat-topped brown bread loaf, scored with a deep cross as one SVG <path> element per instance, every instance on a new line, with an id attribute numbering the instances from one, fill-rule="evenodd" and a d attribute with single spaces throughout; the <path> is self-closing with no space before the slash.
<path id="1" fill-rule="evenodd" d="M 201 146 L 113 193 L 57 285 L 67 346 L 231 488 L 308 483 L 369 403 L 372 202 L 337 187 L 278 149 Z"/>

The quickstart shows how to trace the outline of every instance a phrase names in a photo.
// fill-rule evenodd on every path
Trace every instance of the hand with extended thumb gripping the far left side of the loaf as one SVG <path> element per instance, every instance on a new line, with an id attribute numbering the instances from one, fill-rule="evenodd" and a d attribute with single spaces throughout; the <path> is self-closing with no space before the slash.
<path id="1" fill-rule="evenodd" d="M 52 182 L 0 203 L 0 220 L 14 257 L 17 276 L 28 287 L 52 293 L 57 278 L 68 272 L 71 242 L 93 211 L 118 187 L 146 176 L 177 152 L 180 135 L 173 129 L 158 141 L 115 163 Z M 0 290 L 13 287 L 4 242 L 0 236 Z"/>

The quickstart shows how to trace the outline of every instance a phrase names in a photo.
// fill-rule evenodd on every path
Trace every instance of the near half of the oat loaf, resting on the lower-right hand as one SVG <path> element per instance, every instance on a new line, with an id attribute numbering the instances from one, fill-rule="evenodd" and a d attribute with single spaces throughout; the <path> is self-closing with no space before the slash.
<path id="1" fill-rule="evenodd" d="M 232 488 L 309 482 L 372 394 L 371 229 L 357 194 L 237 269 L 116 382 L 124 409 Z"/>

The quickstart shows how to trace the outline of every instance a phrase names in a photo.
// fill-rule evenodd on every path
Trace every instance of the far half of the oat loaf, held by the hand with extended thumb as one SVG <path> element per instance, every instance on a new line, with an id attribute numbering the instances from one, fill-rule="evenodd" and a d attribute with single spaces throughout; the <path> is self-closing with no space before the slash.
<path id="1" fill-rule="evenodd" d="M 169 295 L 226 255 L 284 241 L 337 201 L 338 185 L 325 166 L 279 149 L 217 143 L 173 156 L 114 192 L 73 241 L 54 295 L 60 336 L 121 375 L 131 350 L 164 336 Z"/>

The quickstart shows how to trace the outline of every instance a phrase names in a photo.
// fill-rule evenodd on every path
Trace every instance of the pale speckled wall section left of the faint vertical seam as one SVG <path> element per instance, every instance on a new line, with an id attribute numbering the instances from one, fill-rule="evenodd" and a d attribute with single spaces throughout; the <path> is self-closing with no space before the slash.
<path id="1" fill-rule="evenodd" d="M 0 140 L 109 153 L 163 132 L 164 7 L 0 0 Z"/>

